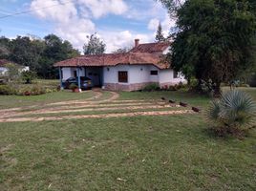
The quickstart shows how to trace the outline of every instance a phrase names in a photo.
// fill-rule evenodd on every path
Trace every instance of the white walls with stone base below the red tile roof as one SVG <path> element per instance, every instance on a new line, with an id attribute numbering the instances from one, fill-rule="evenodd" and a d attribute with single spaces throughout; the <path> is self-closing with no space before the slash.
<path id="1" fill-rule="evenodd" d="M 62 68 L 63 80 L 74 77 L 74 71 L 76 68 Z M 119 83 L 118 82 L 118 72 L 127 71 L 128 72 L 128 82 Z M 157 75 L 152 75 L 151 71 L 158 71 Z M 80 69 L 80 76 L 86 76 L 92 78 L 99 85 L 101 79 L 99 75 L 101 74 L 101 69 L 96 67 L 86 67 Z M 98 74 L 98 75 L 95 75 Z M 94 77 L 97 77 L 97 81 Z M 148 83 L 156 82 L 160 86 L 175 85 L 180 82 L 186 83 L 184 77 L 179 74 L 177 78 L 174 78 L 174 71 L 172 69 L 160 70 L 154 65 L 117 65 L 110 67 L 103 67 L 103 83 L 110 90 L 136 90 L 144 87 Z"/>

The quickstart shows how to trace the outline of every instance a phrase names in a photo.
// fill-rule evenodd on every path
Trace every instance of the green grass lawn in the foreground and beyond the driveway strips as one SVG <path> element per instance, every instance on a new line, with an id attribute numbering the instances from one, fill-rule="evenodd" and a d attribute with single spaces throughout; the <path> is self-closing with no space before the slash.
<path id="1" fill-rule="evenodd" d="M 244 90 L 256 100 L 256 89 Z M 70 94 L 77 97 L 23 98 L 29 105 L 83 96 Z M 182 92 L 119 99 L 161 96 L 203 109 L 209 101 Z M 0 105 L 8 106 L 2 96 Z M 0 123 L 0 190 L 256 190 L 256 131 L 214 138 L 207 127 L 203 114 Z"/>

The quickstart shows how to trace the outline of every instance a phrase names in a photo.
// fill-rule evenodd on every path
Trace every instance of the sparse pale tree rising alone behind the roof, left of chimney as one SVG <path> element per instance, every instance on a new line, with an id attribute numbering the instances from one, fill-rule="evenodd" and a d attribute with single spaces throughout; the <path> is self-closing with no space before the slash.
<path id="1" fill-rule="evenodd" d="M 106 45 L 96 34 L 87 36 L 87 38 L 89 41 L 83 46 L 84 54 L 101 54 L 106 51 Z"/>

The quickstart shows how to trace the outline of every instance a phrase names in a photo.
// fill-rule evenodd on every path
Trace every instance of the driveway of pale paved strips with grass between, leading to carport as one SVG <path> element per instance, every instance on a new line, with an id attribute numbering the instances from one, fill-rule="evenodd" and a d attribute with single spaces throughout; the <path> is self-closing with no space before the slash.
<path id="1" fill-rule="evenodd" d="M 110 96 L 105 96 L 106 93 Z M 118 99 L 116 92 L 94 90 L 94 96 L 84 100 L 49 103 L 40 107 L 18 107 L 0 110 L 0 122 L 42 121 L 74 118 L 166 116 L 192 114 L 192 110 L 181 108 L 162 100 Z"/>

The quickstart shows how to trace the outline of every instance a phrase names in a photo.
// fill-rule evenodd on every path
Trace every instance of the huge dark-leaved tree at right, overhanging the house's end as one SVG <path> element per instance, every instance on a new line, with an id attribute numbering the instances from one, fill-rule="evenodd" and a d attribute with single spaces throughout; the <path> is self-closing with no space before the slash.
<path id="1" fill-rule="evenodd" d="M 187 0 L 177 10 L 180 31 L 167 56 L 174 69 L 187 78 L 211 79 L 219 94 L 221 82 L 237 79 L 252 68 L 256 16 L 250 2 Z"/>

